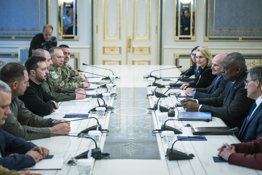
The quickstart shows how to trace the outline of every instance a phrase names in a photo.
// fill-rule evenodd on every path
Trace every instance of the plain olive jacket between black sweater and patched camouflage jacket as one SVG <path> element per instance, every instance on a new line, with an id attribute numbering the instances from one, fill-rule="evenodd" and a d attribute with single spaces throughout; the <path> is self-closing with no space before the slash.
<path id="1" fill-rule="evenodd" d="M 58 102 L 75 100 L 75 93 L 68 93 L 66 91 L 59 91 L 59 86 L 47 76 L 46 82 L 41 83 L 42 88 L 51 96 L 56 98 Z M 68 89 L 69 91 L 75 91 L 75 89 Z"/>

